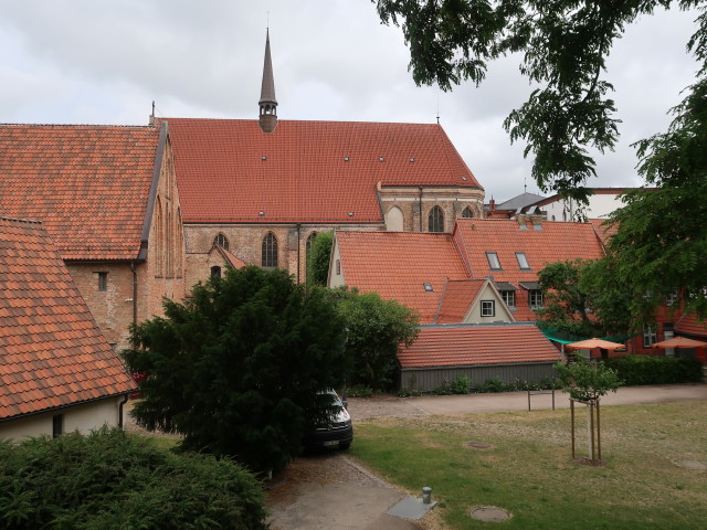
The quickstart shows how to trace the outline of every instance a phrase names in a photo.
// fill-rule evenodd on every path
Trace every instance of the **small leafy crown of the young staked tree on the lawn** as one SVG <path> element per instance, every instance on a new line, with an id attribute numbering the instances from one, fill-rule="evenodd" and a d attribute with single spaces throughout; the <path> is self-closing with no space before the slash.
<path id="1" fill-rule="evenodd" d="M 555 370 L 566 386 L 564 391 L 577 401 L 597 401 L 622 385 L 616 371 L 603 362 L 587 362 L 583 359 L 569 364 L 558 362 Z"/>

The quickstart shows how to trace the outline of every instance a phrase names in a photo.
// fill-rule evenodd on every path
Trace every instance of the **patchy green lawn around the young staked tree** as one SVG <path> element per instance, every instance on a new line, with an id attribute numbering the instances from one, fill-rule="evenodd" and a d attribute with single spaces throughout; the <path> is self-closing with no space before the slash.
<path id="1" fill-rule="evenodd" d="M 587 454 L 583 406 L 578 456 Z M 570 460 L 570 412 L 379 418 L 356 424 L 351 456 L 414 495 L 430 486 L 451 529 L 707 528 L 707 402 L 601 409 L 602 457 Z M 478 449 L 468 442 L 492 444 Z M 513 513 L 468 517 L 474 507 Z"/>

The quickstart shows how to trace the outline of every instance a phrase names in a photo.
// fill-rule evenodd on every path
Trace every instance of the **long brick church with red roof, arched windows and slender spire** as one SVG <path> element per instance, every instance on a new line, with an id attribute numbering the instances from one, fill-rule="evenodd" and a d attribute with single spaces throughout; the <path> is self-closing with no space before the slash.
<path id="1" fill-rule="evenodd" d="M 460 218 L 483 216 L 484 189 L 439 124 L 278 119 L 270 35 L 258 106 L 258 119 L 160 118 L 187 285 L 218 272 L 214 244 L 304 282 L 320 232 L 451 232 Z"/>

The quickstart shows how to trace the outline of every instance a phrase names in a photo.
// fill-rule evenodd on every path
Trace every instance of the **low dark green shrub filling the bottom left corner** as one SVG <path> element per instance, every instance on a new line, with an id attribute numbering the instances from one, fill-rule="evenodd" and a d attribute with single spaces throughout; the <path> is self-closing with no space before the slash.
<path id="1" fill-rule="evenodd" d="M 263 501 L 238 464 L 119 430 L 0 443 L 0 528 L 260 530 Z"/>

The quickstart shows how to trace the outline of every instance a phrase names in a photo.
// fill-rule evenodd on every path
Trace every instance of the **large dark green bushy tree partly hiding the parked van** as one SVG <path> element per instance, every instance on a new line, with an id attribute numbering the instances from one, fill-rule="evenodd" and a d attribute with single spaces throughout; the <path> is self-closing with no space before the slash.
<path id="1" fill-rule="evenodd" d="M 133 340 L 127 363 L 147 374 L 137 422 L 254 470 L 281 469 L 300 452 L 333 412 L 318 392 L 346 377 L 335 304 L 282 269 L 229 268 L 183 304 L 166 300 L 165 317 L 140 324 Z"/>

